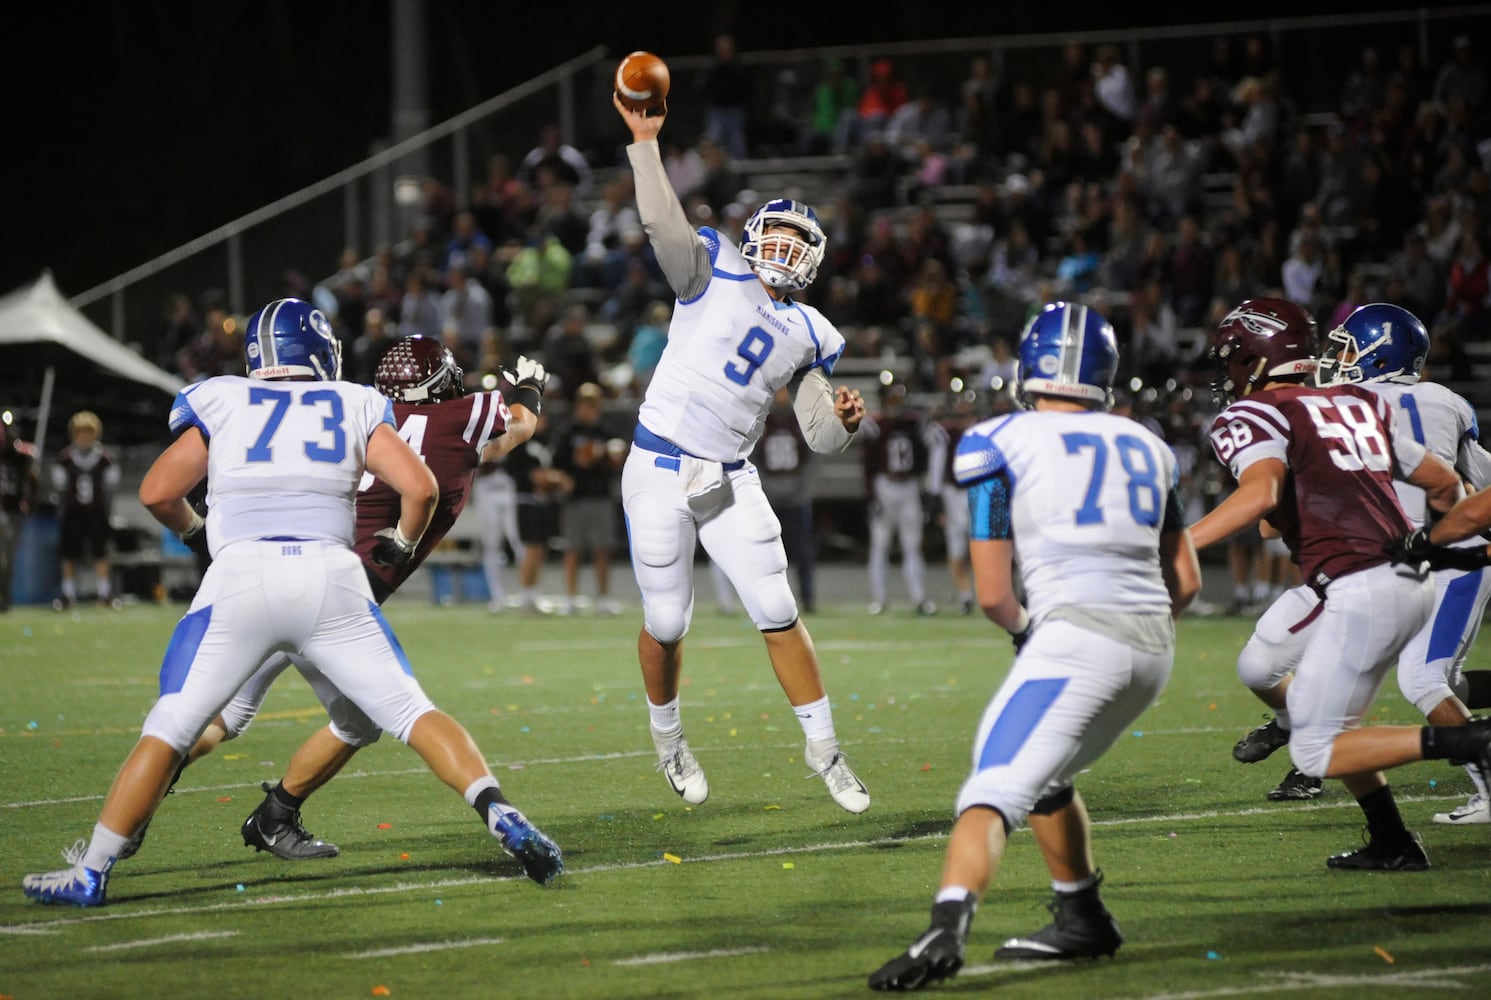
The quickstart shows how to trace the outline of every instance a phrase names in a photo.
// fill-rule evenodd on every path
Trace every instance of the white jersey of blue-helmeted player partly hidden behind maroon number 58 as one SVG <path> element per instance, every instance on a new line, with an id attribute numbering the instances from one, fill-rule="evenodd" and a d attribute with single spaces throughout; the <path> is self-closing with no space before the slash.
<path id="1" fill-rule="evenodd" d="M 1387 399 L 1393 426 L 1455 466 L 1472 489 L 1491 483 L 1491 455 L 1481 447 L 1476 411 L 1464 396 L 1437 382 L 1370 382 L 1361 387 Z M 1424 490 L 1403 480 L 1394 480 L 1393 487 L 1413 528 L 1422 526 Z"/>

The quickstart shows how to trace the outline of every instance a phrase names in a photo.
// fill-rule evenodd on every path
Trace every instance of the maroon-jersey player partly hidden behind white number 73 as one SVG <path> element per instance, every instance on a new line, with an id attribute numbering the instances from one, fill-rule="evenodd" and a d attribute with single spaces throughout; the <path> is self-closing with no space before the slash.
<path id="1" fill-rule="evenodd" d="M 379 362 L 374 385 L 394 399 L 398 434 L 425 459 L 440 486 L 435 516 L 412 557 L 400 566 L 379 565 L 371 553 L 380 537 L 398 520 L 398 493 L 364 475 L 356 502 L 356 553 L 368 574 L 373 596 L 383 604 L 409 580 L 444 538 L 465 508 L 471 480 L 485 459 L 501 458 L 528 441 L 538 423 L 547 374 L 543 365 L 519 358 L 516 371 L 505 373 L 514 387 L 507 393 L 465 395 L 462 371 L 438 340 L 406 337 L 394 341 Z M 277 656 L 265 663 L 198 738 L 186 763 L 212 753 L 218 744 L 239 736 L 253 720 L 270 684 L 286 666 L 297 666 L 327 706 L 331 724 L 318 730 L 291 757 L 277 785 L 264 782 L 264 802 L 243 823 L 243 842 L 286 860 L 334 857 L 334 844 L 318 841 L 300 823 L 304 799 L 331 781 L 361 747 L 382 735 L 356 708 L 341 697 L 315 665 Z M 185 765 L 183 765 L 185 766 Z M 179 772 L 177 772 L 179 776 Z M 145 839 L 140 830 L 127 848 L 130 857 Z"/>

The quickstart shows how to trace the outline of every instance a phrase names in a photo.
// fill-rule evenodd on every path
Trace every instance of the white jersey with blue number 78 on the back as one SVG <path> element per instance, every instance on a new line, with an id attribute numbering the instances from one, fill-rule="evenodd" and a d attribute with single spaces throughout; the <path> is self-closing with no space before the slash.
<path id="1" fill-rule="evenodd" d="M 969 487 L 972 537 L 1014 542 L 1033 620 L 1066 605 L 1169 613 L 1159 542 L 1167 525 L 1179 526 L 1175 455 L 1139 423 L 1109 413 L 1005 414 L 963 432 L 953 475 Z M 990 502 L 984 492 L 994 486 Z"/>

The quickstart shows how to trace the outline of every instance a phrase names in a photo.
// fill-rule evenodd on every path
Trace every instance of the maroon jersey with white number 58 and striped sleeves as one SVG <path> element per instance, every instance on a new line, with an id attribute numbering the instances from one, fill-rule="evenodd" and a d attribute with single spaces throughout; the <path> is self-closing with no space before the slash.
<path id="1" fill-rule="evenodd" d="M 1388 562 L 1387 542 L 1410 529 L 1393 480 L 1418 468 L 1424 447 L 1394 435 L 1391 407 L 1367 389 L 1252 392 L 1217 414 L 1211 443 L 1236 477 L 1260 459 L 1288 466 L 1269 522 L 1317 590 Z"/>

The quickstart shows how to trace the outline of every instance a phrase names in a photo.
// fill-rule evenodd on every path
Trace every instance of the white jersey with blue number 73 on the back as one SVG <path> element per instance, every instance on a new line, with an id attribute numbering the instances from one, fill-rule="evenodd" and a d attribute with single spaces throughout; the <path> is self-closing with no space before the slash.
<path id="1" fill-rule="evenodd" d="M 392 402 L 350 382 L 218 376 L 176 393 L 171 432 L 197 426 L 207 438 L 213 556 L 253 538 L 350 547 L 358 480 L 379 423 L 395 426 Z"/>

